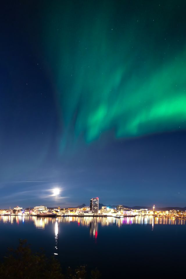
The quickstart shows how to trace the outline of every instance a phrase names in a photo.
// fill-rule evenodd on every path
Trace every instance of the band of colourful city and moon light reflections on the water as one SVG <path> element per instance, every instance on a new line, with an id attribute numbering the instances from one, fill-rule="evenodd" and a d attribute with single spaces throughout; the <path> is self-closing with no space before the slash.
<path id="1" fill-rule="evenodd" d="M 158 218 L 153 216 L 136 216 L 136 217 L 125 217 L 125 218 L 114 218 L 114 217 L 36 217 L 36 216 L 0 216 L 0 222 L 4 224 L 16 224 L 23 225 L 25 223 L 32 223 L 36 229 L 44 230 L 47 227 L 53 231 L 53 254 L 59 255 L 59 226 L 63 224 L 74 223 L 75 226 L 85 227 L 90 233 L 90 237 L 94 239 L 94 243 L 97 243 L 98 233 L 101 227 L 112 227 L 117 228 L 124 226 L 147 226 L 150 225 L 153 230 L 156 225 L 186 225 L 184 219 L 168 219 Z M 49 226 L 50 225 L 50 226 Z"/>

